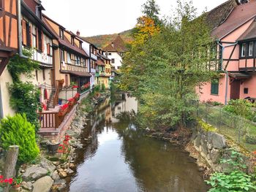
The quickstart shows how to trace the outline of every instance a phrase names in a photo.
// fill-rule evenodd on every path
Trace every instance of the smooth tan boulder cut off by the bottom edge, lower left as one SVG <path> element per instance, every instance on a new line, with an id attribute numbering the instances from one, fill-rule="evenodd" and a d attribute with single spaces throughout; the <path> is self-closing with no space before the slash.
<path id="1" fill-rule="evenodd" d="M 53 180 L 50 176 L 42 177 L 33 184 L 33 192 L 49 192 L 52 185 Z"/>

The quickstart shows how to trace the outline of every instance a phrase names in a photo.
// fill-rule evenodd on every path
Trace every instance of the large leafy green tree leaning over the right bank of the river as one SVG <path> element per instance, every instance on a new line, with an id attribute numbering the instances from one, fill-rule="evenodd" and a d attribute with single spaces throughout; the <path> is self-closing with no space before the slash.
<path id="1" fill-rule="evenodd" d="M 195 11 L 191 2 L 178 1 L 176 16 L 159 29 L 154 26 L 157 32 L 148 28 L 148 36 L 135 38 L 125 55 L 120 84 L 138 97 L 147 126 L 185 127 L 195 110 L 189 105 L 197 99 L 195 87 L 216 75 L 210 70 L 209 29 Z"/>

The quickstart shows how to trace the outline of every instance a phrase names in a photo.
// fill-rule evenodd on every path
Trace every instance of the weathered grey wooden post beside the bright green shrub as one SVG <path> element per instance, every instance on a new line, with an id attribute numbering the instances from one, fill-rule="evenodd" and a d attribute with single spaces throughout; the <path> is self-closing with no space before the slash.
<path id="1" fill-rule="evenodd" d="M 4 164 L 4 178 L 12 178 L 15 177 L 15 166 L 17 164 L 18 160 L 18 152 L 19 152 L 19 146 L 12 145 L 9 147 L 7 151 L 7 158 L 5 160 Z M 4 192 L 8 192 L 10 188 L 10 185 L 7 184 L 7 186 L 4 188 Z"/>

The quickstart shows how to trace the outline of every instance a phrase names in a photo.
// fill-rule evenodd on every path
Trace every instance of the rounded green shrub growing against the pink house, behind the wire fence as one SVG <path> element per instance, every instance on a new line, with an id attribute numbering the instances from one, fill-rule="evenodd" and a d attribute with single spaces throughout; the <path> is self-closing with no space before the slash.
<path id="1" fill-rule="evenodd" d="M 230 112 L 234 115 L 241 116 L 243 118 L 252 120 L 255 116 L 255 112 L 252 110 L 254 104 L 244 99 L 230 100 L 228 104 L 223 107 L 223 110 Z"/>

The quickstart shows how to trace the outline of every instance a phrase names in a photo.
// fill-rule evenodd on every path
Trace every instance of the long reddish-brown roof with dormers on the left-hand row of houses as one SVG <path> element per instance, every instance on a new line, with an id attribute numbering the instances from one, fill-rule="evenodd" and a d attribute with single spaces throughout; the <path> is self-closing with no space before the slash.
<path id="1" fill-rule="evenodd" d="M 73 50 L 76 53 L 79 53 L 80 55 L 83 55 L 83 56 L 89 58 L 89 56 L 83 49 L 80 49 L 80 48 L 76 47 L 75 45 L 72 45 L 71 42 L 69 42 L 69 40 L 67 39 L 67 37 L 65 37 L 65 35 L 64 35 L 64 39 L 61 39 L 61 37 L 59 37 L 59 34 L 57 34 L 56 31 L 50 26 L 47 19 L 51 20 L 50 18 L 48 18 L 45 15 L 42 16 L 42 21 L 46 24 L 46 26 L 48 26 L 49 30 L 54 34 L 56 39 L 58 39 L 59 44 L 63 45 L 64 47 L 67 47 L 69 50 Z M 60 26 L 58 23 L 55 23 L 55 24 Z"/>

